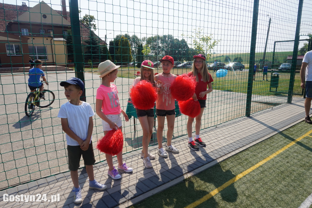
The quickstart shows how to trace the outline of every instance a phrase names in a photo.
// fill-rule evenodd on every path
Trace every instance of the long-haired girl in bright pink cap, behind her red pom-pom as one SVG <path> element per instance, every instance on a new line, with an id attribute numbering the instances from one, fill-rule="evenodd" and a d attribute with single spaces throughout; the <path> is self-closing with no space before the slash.
<path id="1" fill-rule="evenodd" d="M 147 80 L 150 83 L 155 85 L 154 82 L 154 63 L 150 60 L 145 60 L 141 64 L 141 76 L 135 78 L 132 86 L 134 87 L 141 80 Z M 141 157 L 143 158 L 144 166 L 147 168 L 153 167 L 151 163 L 151 159 L 155 159 L 155 155 L 152 155 L 148 152 L 149 142 L 151 140 L 151 136 L 153 134 L 153 126 L 154 126 L 154 108 L 149 110 L 141 110 L 135 109 L 138 115 L 138 119 L 142 126 L 143 130 L 143 138 L 142 138 L 142 146 L 143 150 L 141 152 Z"/>

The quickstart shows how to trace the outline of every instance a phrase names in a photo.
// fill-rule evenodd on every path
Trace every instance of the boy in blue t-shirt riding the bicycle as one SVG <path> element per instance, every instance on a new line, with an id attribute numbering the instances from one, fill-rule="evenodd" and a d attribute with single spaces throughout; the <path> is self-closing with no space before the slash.
<path id="1" fill-rule="evenodd" d="M 41 60 L 35 60 L 35 67 L 29 69 L 29 78 L 28 78 L 28 87 L 30 89 L 30 92 L 35 92 L 37 88 L 39 88 L 39 97 L 44 98 L 44 95 L 42 94 L 43 91 L 43 83 L 40 81 L 40 77 L 42 76 L 43 81 L 48 84 L 46 81 L 46 78 L 44 76 L 43 71 L 41 70 L 42 67 L 42 61 Z"/>

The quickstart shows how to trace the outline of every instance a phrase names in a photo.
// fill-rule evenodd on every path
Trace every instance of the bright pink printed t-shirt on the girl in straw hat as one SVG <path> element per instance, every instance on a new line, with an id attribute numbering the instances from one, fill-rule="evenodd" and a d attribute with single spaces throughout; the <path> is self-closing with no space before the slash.
<path id="1" fill-rule="evenodd" d="M 96 91 L 96 99 L 103 100 L 102 112 L 105 115 L 116 115 L 121 113 L 119 98 L 117 95 L 117 87 L 115 84 L 110 84 L 110 87 L 100 85 Z"/>

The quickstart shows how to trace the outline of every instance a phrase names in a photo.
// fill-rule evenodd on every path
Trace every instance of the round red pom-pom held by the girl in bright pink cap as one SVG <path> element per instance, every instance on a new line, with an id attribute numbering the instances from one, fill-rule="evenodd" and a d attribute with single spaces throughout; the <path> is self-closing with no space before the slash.
<path id="1" fill-rule="evenodd" d="M 134 108 L 148 110 L 154 108 L 157 99 L 157 92 L 153 85 L 142 80 L 129 90 L 129 95 Z"/>

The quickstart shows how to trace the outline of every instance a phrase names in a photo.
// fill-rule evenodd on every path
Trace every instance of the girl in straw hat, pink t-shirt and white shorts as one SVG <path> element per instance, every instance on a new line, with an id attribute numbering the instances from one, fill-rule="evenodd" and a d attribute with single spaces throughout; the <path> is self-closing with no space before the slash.
<path id="1" fill-rule="evenodd" d="M 95 112 L 102 119 L 104 134 L 112 129 L 122 130 L 122 122 L 120 113 L 124 115 L 126 121 L 129 121 L 127 114 L 120 108 L 118 91 L 114 82 L 117 77 L 118 68 L 110 60 L 101 62 L 99 64 L 100 78 L 102 78 L 102 84 L 96 91 Z M 108 175 L 112 179 L 120 179 L 118 171 L 113 166 L 113 156 L 105 154 L 108 164 Z M 118 170 L 123 170 L 127 173 L 132 172 L 132 168 L 128 167 L 122 160 L 122 151 L 117 154 Z"/>

